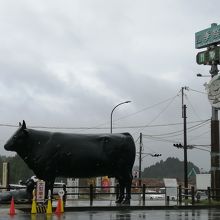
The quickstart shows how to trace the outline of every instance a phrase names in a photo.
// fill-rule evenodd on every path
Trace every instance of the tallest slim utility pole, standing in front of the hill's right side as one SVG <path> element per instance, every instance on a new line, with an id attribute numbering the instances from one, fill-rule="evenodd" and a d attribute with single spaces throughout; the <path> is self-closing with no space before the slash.
<path id="1" fill-rule="evenodd" d="M 183 118 L 183 149 L 184 149 L 184 188 L 185 195 L 188 195 L 188 168 L 187 168 L 187 127 L 186 127 L 186 105 L 184 104 L 184 90 L 182 87 L 182 118 Z"/>

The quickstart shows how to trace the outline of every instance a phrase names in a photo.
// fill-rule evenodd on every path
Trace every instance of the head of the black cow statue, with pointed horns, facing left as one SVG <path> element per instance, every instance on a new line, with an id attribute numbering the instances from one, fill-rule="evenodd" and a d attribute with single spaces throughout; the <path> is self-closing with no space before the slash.
<path id="1" fill-rule="evenodd" d="M 24 145 L 27 137 L 28 137 L 28 131 L 26 128 L 25 121 L 23 121 L 23 124 L 19 123 L 18 130 L 6 142 L 4 146 L 5 150 L 17 152 L 22 147 L 22 145 Z"/>

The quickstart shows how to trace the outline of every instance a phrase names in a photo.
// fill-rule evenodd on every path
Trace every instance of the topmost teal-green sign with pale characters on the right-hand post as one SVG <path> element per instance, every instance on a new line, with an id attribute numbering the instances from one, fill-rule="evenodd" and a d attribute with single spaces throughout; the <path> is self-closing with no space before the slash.
<path id="1" fill-rule="evenodd" d="M 196 49 L 220 43 L 220 25 L 211 24 L 210 28 L 195 33 Z"/>

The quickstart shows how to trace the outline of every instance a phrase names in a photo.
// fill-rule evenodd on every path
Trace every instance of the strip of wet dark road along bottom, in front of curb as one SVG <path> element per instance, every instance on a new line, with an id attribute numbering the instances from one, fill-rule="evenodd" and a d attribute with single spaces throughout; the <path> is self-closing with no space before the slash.
<path id="1" fill-rule="evenodd" d="M 1 210 L 2 211 L 2 210 Z M 141 210 L 141 211 L 86 211 L 66 212 L 61 215 L 17 213 L 9 216 L 1 212 L 0 220 L 219 220 L 219 209 Z"/>

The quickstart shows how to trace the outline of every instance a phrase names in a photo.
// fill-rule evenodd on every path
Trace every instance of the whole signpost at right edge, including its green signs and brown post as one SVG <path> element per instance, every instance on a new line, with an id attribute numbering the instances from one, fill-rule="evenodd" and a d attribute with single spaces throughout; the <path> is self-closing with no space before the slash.
<path id="1" fill-rule="evenodd" d="M 211 186 L 213 189 L 220 188 L 220 143 L 219 143 L 219 91 L 220 81 L 218 75 L 218 64 L 220 64 L 220 25 L 211 24 L 210 28 L 195 33 L 195 48 L 205 48 L 206 51 L 199 52 L 196 56 L 198 64 L 210 65 L 209 71 L 212 80 L 207 84 L 208 98 L 212 104 L 211 118 Z M 220 200 L 220 192 L 214 191 L 214 196 Z"/>

